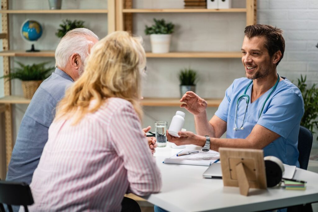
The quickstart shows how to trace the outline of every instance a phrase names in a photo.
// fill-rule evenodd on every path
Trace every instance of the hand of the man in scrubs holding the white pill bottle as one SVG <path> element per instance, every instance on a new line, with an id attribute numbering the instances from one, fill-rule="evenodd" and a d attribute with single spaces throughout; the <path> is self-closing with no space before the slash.
<path id="1" fill-rule="evenodd" d="M 167 139 L 169 140 L 169 142 L 175 143 L 177 146 L 185 144 L 194 144 L 203 147 L 205 144 L 204 136 L 196 135 L 190 131 L 179 131 L 178 135 L 180 137 L 172 136 L 167 131 Z"/>

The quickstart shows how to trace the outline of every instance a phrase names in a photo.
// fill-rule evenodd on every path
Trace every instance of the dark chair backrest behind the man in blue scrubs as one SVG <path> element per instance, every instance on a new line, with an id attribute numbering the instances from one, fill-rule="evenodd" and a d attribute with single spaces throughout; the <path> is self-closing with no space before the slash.
<path id="1" fill-rule="evenodd" d="M 299 157 L 298 161 L 300 168 L 308 168 L 309 156 L 311 151 L 311 146 L 313 144 L 313 134 L 306 127 L 300 126 L 298 135 L 298 151 Z"/>

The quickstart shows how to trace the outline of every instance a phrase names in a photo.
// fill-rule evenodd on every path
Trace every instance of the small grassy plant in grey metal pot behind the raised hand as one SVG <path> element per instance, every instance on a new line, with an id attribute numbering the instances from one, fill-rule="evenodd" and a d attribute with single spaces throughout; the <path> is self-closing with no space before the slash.
<path id="1" fill-rule="evenodd" d="M 188 68 L 188 69 L 184 68 L 179 72 L 181 98 L 187 91 L 196 92 L 197 79 L 198 79 L 197 71 L 191 68 Z"/>

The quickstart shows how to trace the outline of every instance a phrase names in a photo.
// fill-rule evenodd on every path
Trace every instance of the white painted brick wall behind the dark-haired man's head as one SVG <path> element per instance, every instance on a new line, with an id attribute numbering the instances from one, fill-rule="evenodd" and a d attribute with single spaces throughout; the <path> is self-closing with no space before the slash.
<path id="1" fill-rule="evenodd" d="M 318 0 L 258 0 L 258 23 L 284 31 L 286 50 L 277 70 L 297 83 L 307 75 L 308 85 L 318 83 Z M 284 14 L 284 15 L 282 15 Z M 288 14 L 288 15 L 287 15 Z M 314 135 L 313 147 L 318 147 Z"/>

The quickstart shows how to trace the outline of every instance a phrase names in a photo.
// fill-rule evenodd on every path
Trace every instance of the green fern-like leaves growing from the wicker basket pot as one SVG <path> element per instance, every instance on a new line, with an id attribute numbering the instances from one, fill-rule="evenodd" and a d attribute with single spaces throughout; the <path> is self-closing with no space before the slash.
<path id="1" fill-rule="evenodd" d="M 45 68 L 45 65 L 48 64 L 48 62 L 33 65 L 24 65 L 17 61 L 16 63 L 19 64 L 20 67 L 15 68 L 14 72 L 4 75 L 0 77 L 0 79 L 21 79 L 22 81 L 44 80 L 47 78 L 47 73 L 54 69 L 54 67 Z"/>

